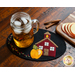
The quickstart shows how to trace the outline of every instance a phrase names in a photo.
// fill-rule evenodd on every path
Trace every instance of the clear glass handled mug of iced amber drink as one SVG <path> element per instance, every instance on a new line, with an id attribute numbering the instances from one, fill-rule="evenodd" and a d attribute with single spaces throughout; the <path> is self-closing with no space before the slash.
<path id="1" fill-rule="evenodd" d="M 36 30 L 33 31 L 33 24 L 36 24 Z M 34 41 L 34 34 L 39 30 L 39 21 L 31 20 L 25 12 L 17 12 L 12 15 L 10 21 L 13 40 L 19 48 L 27 48 Z"/>

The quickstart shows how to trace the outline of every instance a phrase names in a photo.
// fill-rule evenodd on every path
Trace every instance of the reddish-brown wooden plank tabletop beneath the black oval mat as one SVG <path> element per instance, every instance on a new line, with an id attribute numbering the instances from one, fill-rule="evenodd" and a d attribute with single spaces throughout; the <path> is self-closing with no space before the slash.
<path id="1" fill-rule="evenodd" d="M 31 19 L 38 19 L 40 29 L 45 29 L 44 22 L 61 19 L 60 23 L 73 11 L 75 7 L 0 7 L 0 66 L 1 67 L 63 67 L 63 57 L 71 55 L 75 59 L 75 48 L 66 42 L 66 52 L 58 59 L 52 61 L 36 62 L 17 57 L 6 46 L 6 39 L 11 33 L 10 18 L 16 12 L 26 12 Z M 55 33 L 56 25 L 49 31 Z M 75 66 L 75 62 L 72 66 Z"/>

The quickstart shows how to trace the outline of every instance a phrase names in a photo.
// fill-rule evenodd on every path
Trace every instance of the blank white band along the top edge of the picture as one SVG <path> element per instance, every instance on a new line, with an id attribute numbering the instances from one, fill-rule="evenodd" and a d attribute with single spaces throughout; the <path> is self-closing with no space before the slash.
<path id="1" fill-rule="evenodd" d="M 75 0 L 0 0 L 0 6 L 14 7 L 74 7 Z"/>

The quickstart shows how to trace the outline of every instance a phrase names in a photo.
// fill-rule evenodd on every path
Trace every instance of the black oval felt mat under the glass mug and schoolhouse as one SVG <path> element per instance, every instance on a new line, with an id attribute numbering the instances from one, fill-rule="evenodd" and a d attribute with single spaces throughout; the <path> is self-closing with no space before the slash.
<path id="1" fill-rule="evenodd" d="M 13 35 L 12 33 L 8 36 L 6 44 L 8 49 L 18 57 L 27 59 L 27 60 L 33 60 L 33 61 L 49 61 L 54 60 L 62 56 L 66 51 L 66 44 L 64 40 L 57 34 L 48 31 L 51 34 L 51 40 L 58 46 L 56 48 L 56 56 L 41 56 L 39 59 L 32 59 L 30 57 L 30 51 L 33 49 L 33 45 L 37 43 L 38 41 L 42 40 L 44 38 L 44 33 L 47 32 L 47 30 L 39 29 L 39 31 L 34 35 L 34 42 L 33 44 L 28 48 L 19 48 L 15 45 L 13 41 Z"/>

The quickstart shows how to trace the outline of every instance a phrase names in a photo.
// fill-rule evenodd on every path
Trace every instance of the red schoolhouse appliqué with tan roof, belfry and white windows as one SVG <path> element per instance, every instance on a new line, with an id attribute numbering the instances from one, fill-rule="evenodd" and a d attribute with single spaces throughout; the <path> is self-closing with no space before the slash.
<path id="1" fill-rule="evenodd" d="M 44 33 L 44 39 L 35 43 L 39 49 L 43 51 L 44 56 L 56 56 L 56 47 L 58 47 L 51 39 L 49 32 Z"/>

